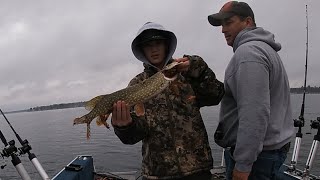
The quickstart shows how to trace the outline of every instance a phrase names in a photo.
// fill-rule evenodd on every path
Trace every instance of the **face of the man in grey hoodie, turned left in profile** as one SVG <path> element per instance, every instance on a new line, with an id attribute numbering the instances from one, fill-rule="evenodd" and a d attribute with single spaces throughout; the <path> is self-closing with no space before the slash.
<path id="1" fill-rule="evenodd" d="M 222 33 L 229 46 L 233 46 L 234 40 L 240 31 L 248 27 L 247 19 L 241 20 L 239 16 L 232 16 L 231 18 L 222 21 Z"/>

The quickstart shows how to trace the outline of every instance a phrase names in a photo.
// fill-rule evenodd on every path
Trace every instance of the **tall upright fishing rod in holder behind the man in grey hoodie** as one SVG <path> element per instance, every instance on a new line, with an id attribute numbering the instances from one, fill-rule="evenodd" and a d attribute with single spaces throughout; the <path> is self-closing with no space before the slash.
<path id="1" fill-rule="evenodd" d="M 306 61 L 305 61 L 305 71 L 304 71 L 304 85 L 303 85 L 303 98 L 301 111 L 298 119 L 294 119 L 294 127 L 298 127 L 298 132 L 296 133 L 296 139 L 294 143 L 294 149 L 291 159 L 291 164 L 289 167 L 289 171 L 293 172 L 296 170 L 296 165 L 298 162 L 298 155 L 300 152 L 301 139 L 302 139 L 302 127 L 304 126 L 304 109 L 305 109 L 305 99 L 307 92 L 307 72 L 308 72 L 308 41 L 309 41 L 309 32 L 308 32 L 308 5 L 306 5 L 306 31 L 307 31 L 307 41 L 306 41 Z"/>

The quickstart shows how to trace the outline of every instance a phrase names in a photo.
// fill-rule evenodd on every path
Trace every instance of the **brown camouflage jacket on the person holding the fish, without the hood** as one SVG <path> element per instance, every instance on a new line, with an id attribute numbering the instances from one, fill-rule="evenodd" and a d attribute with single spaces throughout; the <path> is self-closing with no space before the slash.
<path id="1" fill-rule="evenodd" d="M 190 68 L 162 93 L 144 103 L 145 115 L 131 112 L 133 123 L 115 127 L 124 144 L 142 140 L 142 174 L 148 179 L 181 178 L 213 167 L 211 148 L 200 107 L 219 104 L 223 83 L 199 56 L 187 56 Z M 134 85 L 157 70 L 144 64 Z"/>

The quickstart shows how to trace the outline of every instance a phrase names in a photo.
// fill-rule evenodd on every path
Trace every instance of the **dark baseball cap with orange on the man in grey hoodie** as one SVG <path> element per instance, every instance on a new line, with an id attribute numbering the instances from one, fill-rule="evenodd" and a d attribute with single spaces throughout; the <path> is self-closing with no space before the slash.
<path id="1" fill-rule="evenodd" d="M 208 16 L 208 21 L 212 26 L 221 26 L 222 20 L 232 16 L 251 17 L 254 21 L 254 14 L 250 6 L 245 2 L 229 1 L 225 3 L 220 11 Z"/>

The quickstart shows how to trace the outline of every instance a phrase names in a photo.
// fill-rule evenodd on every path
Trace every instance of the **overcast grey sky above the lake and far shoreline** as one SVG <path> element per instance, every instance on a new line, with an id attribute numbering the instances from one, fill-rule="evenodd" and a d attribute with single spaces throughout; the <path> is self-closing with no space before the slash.
<path id="1" fill-rule="evenodd" d="M 174 58 L 197 54 L 223 80 L 232 56 L 207 21 L 224 0 L 0 0 L 0 108 L 86 101 L 127 86 L 142 71 L 131 52 L 138 29 L 162 24 L 178 38 Z M 248 0 L 257 26 L 275 34 L 291 87 L 320 86 L 320 1 Z"/>

